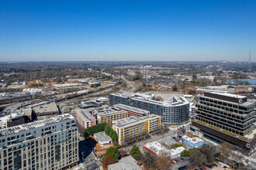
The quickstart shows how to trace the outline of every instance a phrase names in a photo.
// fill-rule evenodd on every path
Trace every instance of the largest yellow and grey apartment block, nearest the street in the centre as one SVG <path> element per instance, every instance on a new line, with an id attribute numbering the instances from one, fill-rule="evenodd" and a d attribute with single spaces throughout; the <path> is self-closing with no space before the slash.
<path id="1" fill-rule="evenodd" d="M 144 117 L 126 117 L 112 122 L 120 145 L 145 138 L 161 127 L 161 116 L 149 114 Z"/>

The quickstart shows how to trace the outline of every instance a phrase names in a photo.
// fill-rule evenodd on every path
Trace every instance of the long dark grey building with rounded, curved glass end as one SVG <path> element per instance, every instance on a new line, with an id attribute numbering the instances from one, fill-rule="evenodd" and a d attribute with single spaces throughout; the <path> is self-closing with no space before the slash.
<path id="1" fill-rule="evenodd" d="M 178 125 L 189 122 L 189 101 L 184 97 L 171 100 L 154 100 L 154 94 L 112 93 L 109 94 L 109 106 L 125 104 L 150 111 L 161 116 L 162 124 Z"/>

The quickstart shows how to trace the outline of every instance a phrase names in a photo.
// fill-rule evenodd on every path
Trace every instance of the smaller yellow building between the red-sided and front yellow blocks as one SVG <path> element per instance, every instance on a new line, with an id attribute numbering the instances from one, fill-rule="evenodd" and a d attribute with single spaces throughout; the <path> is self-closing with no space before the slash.
<path id="1" fill-rule="evenodd" d="M 112 121 L 116 121 L 122 118 L 128 117 L 126 110 L 119 110 L 113 107 L 105 107 L 97 111 L 98 123 L 107 123 L 112 126 Z"/>

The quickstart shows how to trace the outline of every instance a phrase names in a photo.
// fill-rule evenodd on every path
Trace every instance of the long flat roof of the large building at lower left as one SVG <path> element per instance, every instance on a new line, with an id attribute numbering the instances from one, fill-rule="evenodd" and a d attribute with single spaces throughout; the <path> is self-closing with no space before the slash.
<path id="1" fill-rule="evenodd" d="M 43 127 L 43 126 L 46 126 L 49 124 L 57 124 L 61 121 L 67 121 L 67 120 L 72 120 L 72 119 L 74 119 L 74 117 L 71 114 L 61 114 L 61 115 L 57 115 L 55 117 L 50 117 L 49 119 L 46 119 L 43 121 L 34 121 L 34 122 L 28 123 L 28 124 L 21 124 L 21 125 L 11 127 L 11 128 L 0 129 L 0 136 L 15 134 L 15 133 L 22 132 L 22 131 L 28 131 L 33 128 L 40 128 L 40 127 Z"/>

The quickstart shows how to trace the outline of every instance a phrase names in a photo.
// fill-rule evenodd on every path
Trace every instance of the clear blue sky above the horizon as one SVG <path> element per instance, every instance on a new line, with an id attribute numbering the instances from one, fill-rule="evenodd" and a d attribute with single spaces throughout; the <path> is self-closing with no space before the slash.
<path id="1" fill-rule="evenodd" d="M 256 62 L 254 0 L 0 1 L 0 61 Z"/>

